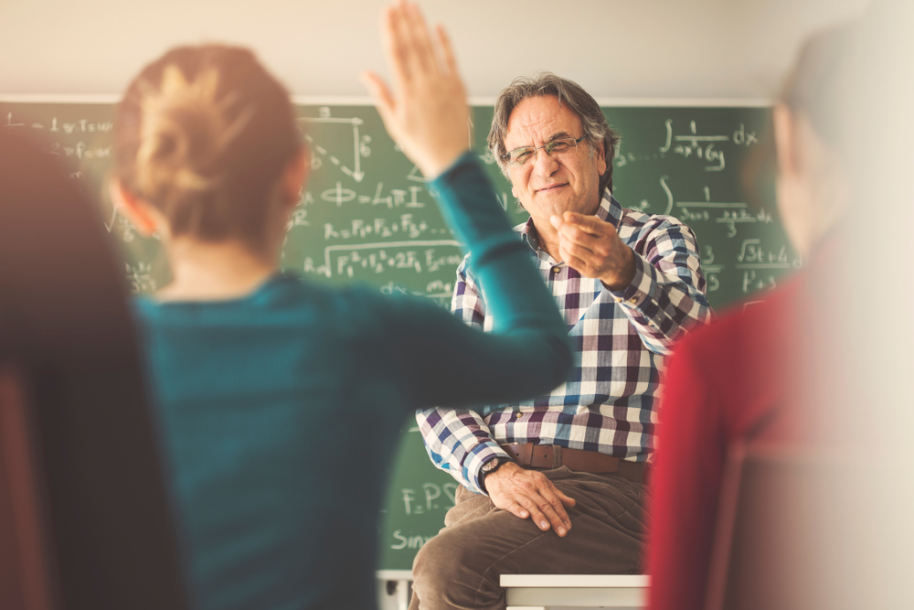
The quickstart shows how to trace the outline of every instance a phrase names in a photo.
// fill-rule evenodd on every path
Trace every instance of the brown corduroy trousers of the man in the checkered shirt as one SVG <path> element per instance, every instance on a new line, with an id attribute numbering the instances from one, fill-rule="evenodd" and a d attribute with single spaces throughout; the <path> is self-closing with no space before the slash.
<path id="1" fill-rule="evenodd" d="M 615 475 L 542 470 L 574 498 L 565 538 L 459 487 L 445 528 L 413 563 L 409 610 L 504 610 L 502 574 L 632 574 L 643 568 L 646 487 Z"/>

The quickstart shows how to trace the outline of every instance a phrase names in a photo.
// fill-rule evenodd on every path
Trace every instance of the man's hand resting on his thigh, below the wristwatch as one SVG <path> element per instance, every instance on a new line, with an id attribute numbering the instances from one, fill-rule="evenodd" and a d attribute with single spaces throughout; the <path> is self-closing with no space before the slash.
<path id="1" fill-rule="evenodd" d="M 574 499 L 559 491 L 541 472 L 505 464 L 485 476 L 485 491 L 495 508 L 520 519 L 529 517 L 540 530 L 551 527 L 559 536 L 565 536 L 571 529 L 565 508 L 573 507 Z"/>

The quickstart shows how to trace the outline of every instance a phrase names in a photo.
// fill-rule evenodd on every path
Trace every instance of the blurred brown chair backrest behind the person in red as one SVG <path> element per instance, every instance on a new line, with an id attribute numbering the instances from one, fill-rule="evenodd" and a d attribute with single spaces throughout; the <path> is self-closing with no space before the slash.
<path id="1" fill-rule="evenodd" d="M 812 450 L 739 444 L 728 455 L 707 610 L 810 610 L 834 599 L 829 503 L 838 463 Z"/>

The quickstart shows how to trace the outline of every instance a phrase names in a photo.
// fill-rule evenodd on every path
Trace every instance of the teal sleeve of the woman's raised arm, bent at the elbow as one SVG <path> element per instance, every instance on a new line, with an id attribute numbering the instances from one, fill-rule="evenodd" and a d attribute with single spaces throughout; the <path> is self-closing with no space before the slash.
<path id="1" fill-rule="evenodd" d="M 488 177 L 467 153 L 430 187 L 466 244 L 473 273 L 491 286 L 485 297 L 497 323 L 483 333 L 428 301 L 391 299 L 397 302 L 384 316 L 388 366 L 408 406 L 479 409 L 551 390 L 571 366 L 568 330 Z"/>

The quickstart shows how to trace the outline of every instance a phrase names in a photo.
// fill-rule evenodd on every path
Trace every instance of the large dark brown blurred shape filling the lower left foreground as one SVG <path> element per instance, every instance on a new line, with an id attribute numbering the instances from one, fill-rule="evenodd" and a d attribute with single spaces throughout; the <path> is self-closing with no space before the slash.
<path id="1" fill-rule="evenodd" d="M 121 264 L 65 168 L 0 134 L 4 608 L 186 607 Z"/>

